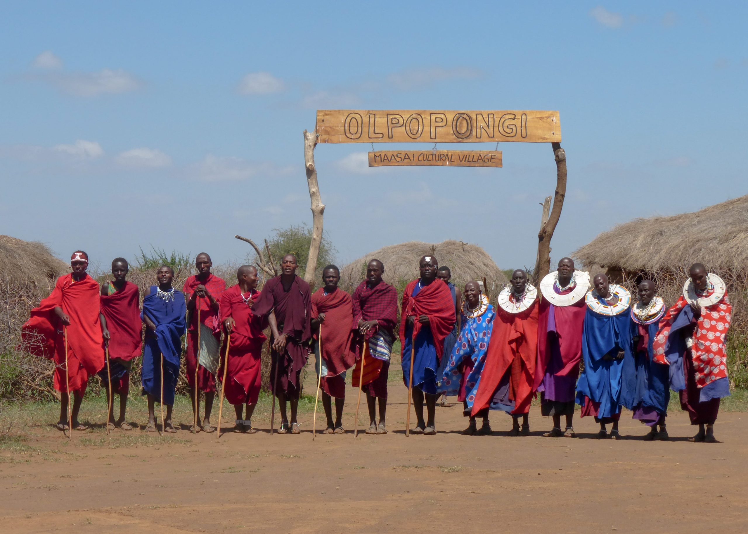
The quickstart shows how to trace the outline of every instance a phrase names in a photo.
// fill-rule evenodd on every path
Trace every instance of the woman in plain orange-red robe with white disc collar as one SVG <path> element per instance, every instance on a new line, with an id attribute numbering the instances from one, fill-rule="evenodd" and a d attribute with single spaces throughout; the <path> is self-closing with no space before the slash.
<path id="1" fill-rule="evenodd" d="M 494 329 L 488 342 L 472 416 L 480 410 L 504 410 L 512 416 L 510 436 L 530 435 L 538 348 L 538 290 L 527 273 L 512 273 L 512 285 L 499 294 Z M 519 418 L 522 417 L 522 428 Z"/>

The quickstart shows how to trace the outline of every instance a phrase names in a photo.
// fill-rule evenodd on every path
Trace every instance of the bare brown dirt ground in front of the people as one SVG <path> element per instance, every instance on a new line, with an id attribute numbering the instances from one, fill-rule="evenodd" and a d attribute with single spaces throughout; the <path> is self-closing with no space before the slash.
<path id="1" fill-rule="evenodd" d="M 624 440 L 592 439 L 589 419 L 576 420 L 578 439 L 545 438 L 549 420 L 536 407 L 530 437 L 508 437 L 504 413 L 491 413 L 494 435 L 462 436 L 462 410 L 440 407 L 438 435 L 406 438 L 398 389 L 390 433 L 354 440 L 355 391 L 348 433 L 316 440 L 307 413 L 296 436 L 117 430 L 68 443 L 33 432 L 2 451 L 1 531 L 748 532 L 746 413 L 720 414 L 717 444 L 688 443 L 693 427 L 679 411 L 668 443 L 641 440 L 646 428 L 628 413 Z"/>

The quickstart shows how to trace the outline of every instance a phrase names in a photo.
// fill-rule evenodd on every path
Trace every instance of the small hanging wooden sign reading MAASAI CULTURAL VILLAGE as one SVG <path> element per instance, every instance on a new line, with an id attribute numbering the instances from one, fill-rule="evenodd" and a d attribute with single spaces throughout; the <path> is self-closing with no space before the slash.
<path id="1" fill-rule="evenodd" d="M 369 166 L 500 167 L 501 151 L 376 151 Z"/>

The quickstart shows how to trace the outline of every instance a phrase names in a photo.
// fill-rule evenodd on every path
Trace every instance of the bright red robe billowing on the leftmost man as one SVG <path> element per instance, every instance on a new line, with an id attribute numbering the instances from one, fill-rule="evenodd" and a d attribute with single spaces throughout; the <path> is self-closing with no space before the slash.
<path id="1" fill-rule="evenodd" d="M 64 330 L 55 315 L 56 307 L 70 317 L 70 326 L 64 327 L 70 390 L 85 392 L 88 377 L 104 368 L 99 284 L 88 274 L 78 282 L 72 274 L 61 276 L 52 294 L 31 310 L 31 318 L 22 327 L 22 348 L 31 354 L 54 359 L 55 389 L 67 392 Z"/>

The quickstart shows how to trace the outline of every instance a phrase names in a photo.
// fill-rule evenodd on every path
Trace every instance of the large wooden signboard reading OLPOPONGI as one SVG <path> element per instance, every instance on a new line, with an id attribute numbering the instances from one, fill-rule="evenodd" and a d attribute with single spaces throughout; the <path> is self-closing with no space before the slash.
<path id="1" fill-rule="evenodd" d="M 318 109 L 318 143 L 561 142 L 559 112 Z"/>

